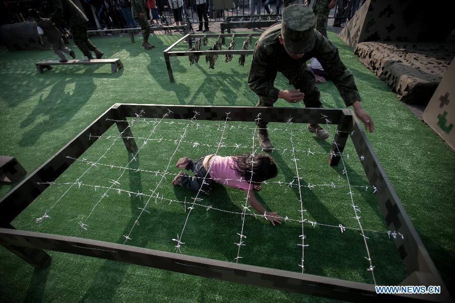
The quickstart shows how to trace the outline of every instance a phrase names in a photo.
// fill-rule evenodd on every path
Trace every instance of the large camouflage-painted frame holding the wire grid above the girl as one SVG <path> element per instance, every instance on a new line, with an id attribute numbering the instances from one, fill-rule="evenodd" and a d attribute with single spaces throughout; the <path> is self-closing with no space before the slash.
<path id="1" fill-rule="evenodd" d="M 361 164 L 370 184 L 378 188 L 375 193 L 376 199 L 388 229 L 405 235 L 404 238 L 399 236 L 393 238 L 408 274 L 400 285 L 439 285 L 441 294 L 378 294 L 374 285 L 368 283 L 92 239 L 16 230 L 11 225 L 14 218 L 50 186 L 50 182 L 55 181 L 114 123 L 123 134 L 122 139 L 127 151 L 134 153 L 138 146 L 126 120 L 128 117 L 135 117 L 135 113 L 142 112 L 141 118 L 163 118 L 164 114 L 168 113 L 166 119 L 191 119 L 195 111 L 199 113 L 198 120 L 225 121 L 229 114 L 230 121 L 253 122 L 261 114 L 262 119 L 269 122 L 287 123 L 289 117 L 293 117 L 293 123 L 338 125 L 328 163 L 330 166 L 339 163 L 349 136 L 357 155 L 360 159 L 363 156 Z M 444 282 L 390 184 L 368 138 L 352 111 L 346 109 L 115 104 L 0 200 L 0 227 L 0 244 L 38 269 L 49 266 L 51 257 L 42 250 L 48 249 L 349 301 L 382 301 L 387 298 L 405 301 L 451 301 Z"/>

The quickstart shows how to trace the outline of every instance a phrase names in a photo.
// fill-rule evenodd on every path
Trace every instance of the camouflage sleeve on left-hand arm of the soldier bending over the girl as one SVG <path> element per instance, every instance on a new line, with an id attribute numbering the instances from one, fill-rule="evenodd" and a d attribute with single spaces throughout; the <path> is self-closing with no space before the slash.
<path id="1" fill-rule="evenodd" d="M 269 63 L 273 62 L 272 60 L 274 59 L 268 58 L 265 49 L 256 43 L 248 73 L 248 86 L 258 96 L 269 96 L 277 99 L 279 89 L 274 87 L 277 72 L 272 71 L 269 67 Z"/>

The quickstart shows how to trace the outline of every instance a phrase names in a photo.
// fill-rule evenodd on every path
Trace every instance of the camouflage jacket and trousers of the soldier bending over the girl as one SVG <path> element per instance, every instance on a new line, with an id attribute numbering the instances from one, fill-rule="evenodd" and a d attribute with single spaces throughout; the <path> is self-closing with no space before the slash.
<path id="1" fill-rule="evenodd" d="M 272 106 L 278 99 L 279 89 L 274 87 L 278 72 L 287 77 L 295 88 L 305 93 L 306 107 L 320 107 L 319 90 L 314 75 L 309 74 L 306 61 L 316 58 L 332 79 L 346 106 L 350 106 L 360 95 L 355 86 L 354 76 L 341 62 L 337 47 L 320 32 L 314 30 L 313 48 L 299 59 L 292 59 L 280 43 L 281 24 L 269 27 L 262 33 L 254 48 L 248 74 L 248 85 L 258 96 L 258 105 Z"/>

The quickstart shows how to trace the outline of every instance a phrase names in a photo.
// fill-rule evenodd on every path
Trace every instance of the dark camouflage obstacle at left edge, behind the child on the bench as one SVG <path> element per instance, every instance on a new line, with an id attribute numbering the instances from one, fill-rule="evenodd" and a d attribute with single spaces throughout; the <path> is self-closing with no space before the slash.
<path id="1" fill-rule="evenodd" d="M 10 52 L 24 49 L 51 49 L 45 38 L 44 46 L 39 43 L 36 22 L 4 24 L 0 26 L 0 39 Z"/>

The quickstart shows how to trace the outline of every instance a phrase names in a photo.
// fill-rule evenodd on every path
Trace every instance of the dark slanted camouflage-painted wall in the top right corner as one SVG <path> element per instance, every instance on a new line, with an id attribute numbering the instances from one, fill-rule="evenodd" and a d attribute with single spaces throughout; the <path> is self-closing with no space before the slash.
<path id="1" fill-rule="evenodd" d="M 455 27 L 455 2 L 367 0 L 340 37 L 352 48 L 365 41 L 443 41 Z"/>

